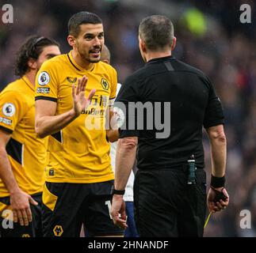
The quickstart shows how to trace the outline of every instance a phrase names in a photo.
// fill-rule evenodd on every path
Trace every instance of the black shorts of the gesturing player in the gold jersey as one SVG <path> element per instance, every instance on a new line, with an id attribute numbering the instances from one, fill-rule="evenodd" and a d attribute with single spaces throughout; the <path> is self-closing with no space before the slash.
<path id="1" fill-rule="evenodd" d="M 102 183 L 45 183 L 44 236 L 123 236 L 110 217 L 113 180 Z"/>

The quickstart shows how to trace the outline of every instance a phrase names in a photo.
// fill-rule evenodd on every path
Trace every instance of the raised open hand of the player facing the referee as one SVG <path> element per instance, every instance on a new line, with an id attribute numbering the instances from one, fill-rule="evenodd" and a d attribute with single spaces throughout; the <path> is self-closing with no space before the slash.
<path id="1" fill-rule="evenodd" d="M 82 111 L 86 110 L 90 104 L 91 98 L 96 92 L 95 89 L 92 89 L 89 93 L 89 96 L 85 96 L 87 81 L 88 77 L 83 76 L 82 78 L 78 78 L 78 85 L 76 88 L 75 85 L 72 86 L 73 107 L 76 115 L 80 115 Z"/>

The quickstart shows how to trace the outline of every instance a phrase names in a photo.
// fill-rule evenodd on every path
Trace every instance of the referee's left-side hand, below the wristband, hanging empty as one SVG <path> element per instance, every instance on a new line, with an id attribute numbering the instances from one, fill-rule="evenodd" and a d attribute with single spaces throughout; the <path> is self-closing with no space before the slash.
<path id="1" fill-rule="evenodd" d="M 113 194 L 110 213 L 115 225 L 122 229 L 128 228 L 123 195 Z"/>

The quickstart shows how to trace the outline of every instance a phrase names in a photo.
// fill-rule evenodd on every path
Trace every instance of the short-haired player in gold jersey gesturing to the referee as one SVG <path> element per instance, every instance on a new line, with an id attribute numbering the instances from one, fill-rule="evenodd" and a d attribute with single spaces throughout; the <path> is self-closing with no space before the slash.
<path id="1" fill-rule="evenodd" d="M 100 62 L 100 17 L 80 12 L 68 23 L 73 49 L 45 62 L 36 77 L 36 133 L 49 135 L 43 193 L 44 236 L 122 236 L 109 214 L 113 172 L 106 115 L 116 96 L 117 72 Z M 110 114 L 111 115 L 111 114 Z"/>

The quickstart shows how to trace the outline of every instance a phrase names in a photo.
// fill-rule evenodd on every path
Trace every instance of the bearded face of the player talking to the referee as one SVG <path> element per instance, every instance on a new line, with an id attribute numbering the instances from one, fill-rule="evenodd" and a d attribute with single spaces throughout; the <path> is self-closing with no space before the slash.
<path id="1" fill-rule="evenodd" d="M 75 39 L 75 47 L 83 61 L 99 62 L 103 45 L 104 32 L 102 24 L 80 25 L 79 35 Z"/>

